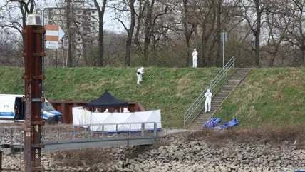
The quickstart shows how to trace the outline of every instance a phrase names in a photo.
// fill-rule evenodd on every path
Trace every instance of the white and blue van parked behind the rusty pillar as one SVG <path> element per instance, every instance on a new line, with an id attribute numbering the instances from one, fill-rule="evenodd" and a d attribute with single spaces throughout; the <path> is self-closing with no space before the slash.
<path id="1" fill-rule="evenodd" d="M 22 101 L 24 95 L 0 94 L 0 122 L 24 121 L 25 104 Z M 62 121 L 62 115 L 48 103 L 43 102 L 43 119 L 48 123 L 58 123 Z"/>

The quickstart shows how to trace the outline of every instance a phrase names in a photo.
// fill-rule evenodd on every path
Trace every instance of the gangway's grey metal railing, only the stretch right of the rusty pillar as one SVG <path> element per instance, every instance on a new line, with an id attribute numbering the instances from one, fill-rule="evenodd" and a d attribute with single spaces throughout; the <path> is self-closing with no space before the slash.
<path id="1" fill-rule="evenodd" d="M 84 125 L 44 126 L 43 143 L 75 143 L 126 138 L 157 138 L 158 123 L 100 123 Z"/>

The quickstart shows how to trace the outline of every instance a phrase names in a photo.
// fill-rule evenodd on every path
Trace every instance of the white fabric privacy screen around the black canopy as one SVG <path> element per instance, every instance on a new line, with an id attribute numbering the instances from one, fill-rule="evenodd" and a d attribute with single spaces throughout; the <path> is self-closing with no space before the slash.
<path id="1" fill-rule="evenodd" d="M 153 130 L 154 123 L 161 127 L 161 111 L 138 111 L 131 113 L 95 113 L 82 107 L 73 107 L 73 125 L 90 126 L 91 131 L 141 131 L 145 123 L 145 130 Z M 103 125 L 95 125 L 103 124 Z"/>

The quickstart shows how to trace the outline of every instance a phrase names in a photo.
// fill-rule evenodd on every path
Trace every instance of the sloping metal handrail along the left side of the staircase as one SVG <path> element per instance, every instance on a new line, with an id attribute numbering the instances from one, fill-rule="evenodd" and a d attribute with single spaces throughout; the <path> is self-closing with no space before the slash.
<path id="1" fill-rule="evenodd" d="M 207 89 L 210 89 L 210 91 L 213 93 L 213 96 L 219 89 L 222 87 L 222 85 L 227 81 L 229 74 L 229 71 L 232 71 L 230 69 L 234 69 L 234 62 L 235 58 L 234 56 L 229 59 L 227 64 L 218 72 L 217 76 L 214 77 L 214 79 L 211 81 L 210 85 L 205 88 L 202 93 L 200 93 L 200 96 L 194 101 L 194 103 L 191 104 L 190 108 L 187 109 L 183 116 L 183 127 L 187 128 L 190 126 L 192 121 L 197 118 L 197 116 L 200 114 L 200 112 L 205 108 L 205 92 L 207 92 Z"/>

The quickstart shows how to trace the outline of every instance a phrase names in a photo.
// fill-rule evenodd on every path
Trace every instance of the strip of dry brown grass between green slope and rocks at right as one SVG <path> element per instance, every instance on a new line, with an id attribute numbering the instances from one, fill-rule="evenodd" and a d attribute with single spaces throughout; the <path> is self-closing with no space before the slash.
<path id="1" fill-rule="evenodd" d="M 282 144 L 292 143 L 298 148 L 305 148 L 305 124 L 299 126 L 265 126 L 255 130 L 232 128 L 224 131 L 205 129 L 185 136 L 186 141 L 207 141 L 211 146 L 225 146 L 233 143 Z"/>

